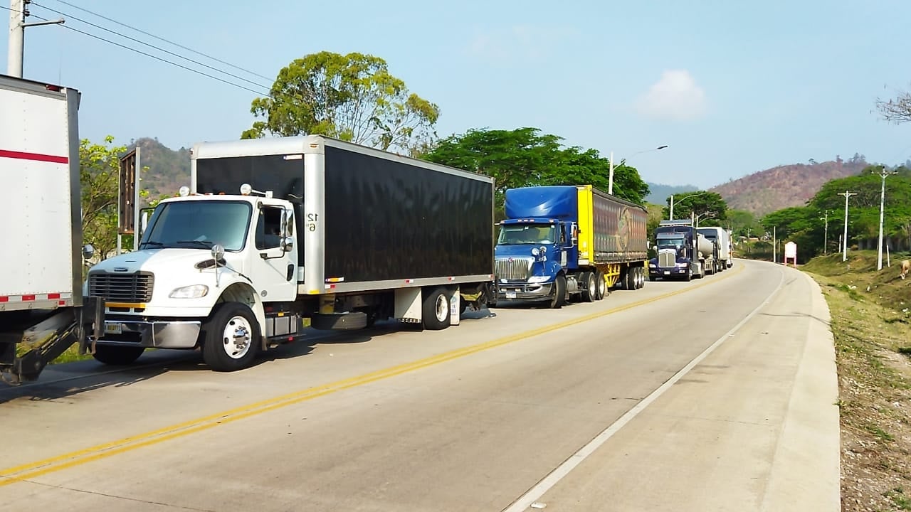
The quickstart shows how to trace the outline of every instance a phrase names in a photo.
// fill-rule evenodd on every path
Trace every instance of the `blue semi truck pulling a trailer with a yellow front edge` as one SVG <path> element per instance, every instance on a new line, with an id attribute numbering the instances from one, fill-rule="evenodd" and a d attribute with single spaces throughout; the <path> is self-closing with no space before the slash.
<path id="1" fill-rule="evenodd" d="M 559 308 L 603 299 L 620 282 L 648 280 L 648 212 L 591 185 L 506 191 L 495 250 L 496 302 L 549 302 Z"/>

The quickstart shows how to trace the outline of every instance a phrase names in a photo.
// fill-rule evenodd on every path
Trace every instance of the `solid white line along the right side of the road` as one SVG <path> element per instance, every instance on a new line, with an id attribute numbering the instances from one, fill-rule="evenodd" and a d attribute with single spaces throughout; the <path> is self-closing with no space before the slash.
<path id="1" fill-rule="evenodd" d="M 673 376 L 671 376 L 670 379 L 668 379 L 664 384 L 661 384 L 658 387 L 658 389 L 656 389 L 655 391 L 652 391 L 648 396 L 643 398 L 639 404 L 636 404 L 635 406 L 633 406 L 633 408 L 631 408 L 629 411 L 627 411 L 626 414 L 620 416 L 617 419 L 617 421 L 610 424 L 606 429 L 602 430 L 599 435 L 596 435 L 594 439 L 589 441 L 588 445 L 584 445 L 581 448 L 579 448 L 578 451 L 575 454 L 573 454 L 572 456 L 570 456 L 567 460 L 565 460 L 563 462 L 563 464 L 557 466 L 557 468 L 554 469 L 553 471 L 551 471 L 548 474 L 548 476 L 545 476 L 544 478 L 542 478 L 537 483 L 536 486 L 529 489 L 527 493 L 525 493 L 524 495 L 519 497 L 516 501 L 514 501 L 512 503 L 512 505 L 503 509 L 503 512 L 524 512 L 525 510 L 527 510 L 528 507 L 531 507 L 532 504 L 536 503 L 538 501 L 538 499 L 540 499 L 542 496 L 544 496 L 544 494 L 547 493 L 551 488 L 553 488 L 553 486 L 556 486 L 557 483 L 560 480 L 562 480 L 564 476 L 567 476 L 573 469 L 576 468 L 576 466 L 578 466 L 579 464 L 582 464 L 582 461 L 584 461 L 586 458 L 588 458 L 591 454 L 595 453 L 595 450 L 597 450 L 601 445 L 606 443 L 610 437 L 612 437 L 614 434 L 617 434 L 619 429 L 623 428 L 623 426 L 630 423 L 630 421 L 632 421 L 633 418 L 635 418 L 642 411 L 644 411 L 645 408 L 648 407 L 652 402 L 657 400 L 661 394 L 664 394 L 665 391 L 670 389 L 670 386 L 676 384 L 677 381 L 681 380 L 681 378 L 684 375 L 688 374 L 694 366 L 696 366 L 697 364 L 700 364 L 701 361 L 706 358 L 706 356 L 708 356 L 716 348 L 718 348 L 722 343 L 724 343 L 725 340 L 732 337 L 732 335 L 734 333 L 736 333 L 743 326 L 744 323 L 749 322 L 750 319 L 752 319 L 752 317 L 756 315 L 756 313 L 758 313 L 760 310 L 762 310 L 763 307 L 765 307 L 766 304 L 771 302 L 773 297 L 782 290 L 783 285 L 784 285 L 784 272 L 782 272 L 781 274 L 782 274 L 781 280 L 779 280 L 778 286 L 773 290 L 772 293 L 769 294 L 768 297 L 765 298 L 765 300 L 761 304 L 756 306 L 756 309 L 752 310 L 752 312 L 750 312 L 750 314 L 743 317 L 742 321 L 737 323 L 737 325 L 734 325 L 730 331 L 728 331 L 727 333 L 724 333 L 724 335 L 722 335 L 722 337 L 719 338 L 718 341 L 716 341 L 715 343 L 711 343 L 711 345 L 707 349 L 705 349 L 704 351 L 702 351 L 702 353 L 697 355 L 689 364 L 687 364 L 686 366 L 681 368 L 681 370 L 679 372 L 677 372 L 676 374 L 673 374 Z"/>

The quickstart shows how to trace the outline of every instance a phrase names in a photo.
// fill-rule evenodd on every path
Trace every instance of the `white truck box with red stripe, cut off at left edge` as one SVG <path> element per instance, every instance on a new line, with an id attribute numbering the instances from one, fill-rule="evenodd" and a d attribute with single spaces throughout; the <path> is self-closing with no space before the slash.
<path id="1" fill-rule="evenodd" d="M 79 92 L 0 75 L 0 378 L 35 380 L 102 304 L 82 292 Z M 17 349 L 17 347 L 19 347 Z"/>

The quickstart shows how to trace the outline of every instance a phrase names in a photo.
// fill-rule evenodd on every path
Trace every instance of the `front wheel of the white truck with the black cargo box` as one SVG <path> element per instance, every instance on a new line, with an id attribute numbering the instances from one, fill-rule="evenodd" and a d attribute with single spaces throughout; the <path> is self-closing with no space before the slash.
<path id="1" fill-rule="evenodd" d="M 260 325 L 241 302 L 224 302 L 216 307 L 205 325 L 202 360 L 216 372 L 246 368 L 256 357 Z"/>

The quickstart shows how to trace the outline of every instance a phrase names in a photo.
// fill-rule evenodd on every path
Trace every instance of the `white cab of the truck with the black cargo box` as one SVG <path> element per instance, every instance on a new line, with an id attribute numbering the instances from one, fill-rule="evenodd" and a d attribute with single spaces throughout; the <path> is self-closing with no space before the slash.
<path id="1" fill-rule="evenodd" d="M 295 335 L 299 319 L 272 315 L 264 302 L 292 302 L 298 247 L 292 204 L 268 192 L 162 200 L 138 251 L 101 261 L 86 292 L 107 298 L 96 357 L 132 363 L 147 347 L 203 346 L 206 363 L 231 371 L 251 363 L 255 343 Z M 266 333 L 261 333 L 266 326 Z M 263 347 L 265 348 L 265 347 Z"/>

